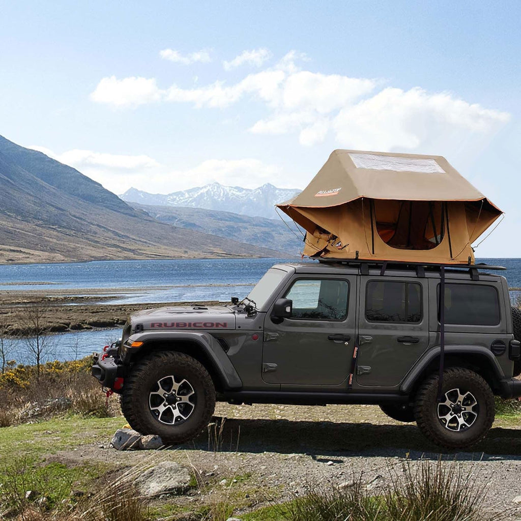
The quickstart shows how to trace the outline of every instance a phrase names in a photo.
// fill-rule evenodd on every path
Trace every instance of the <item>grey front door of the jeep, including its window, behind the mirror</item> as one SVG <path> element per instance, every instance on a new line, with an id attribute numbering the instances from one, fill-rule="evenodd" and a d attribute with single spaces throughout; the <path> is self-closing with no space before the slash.
<path id="1" fill-rule="evenodd" d="M 302 276 L 279 298 L 293 301 L 280 324 L 266 314 L 263 379 L 268 383 L 338 386 L 350 374 L 356 276 Z"/>

